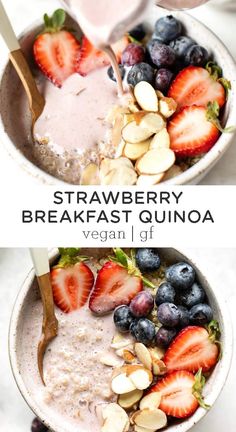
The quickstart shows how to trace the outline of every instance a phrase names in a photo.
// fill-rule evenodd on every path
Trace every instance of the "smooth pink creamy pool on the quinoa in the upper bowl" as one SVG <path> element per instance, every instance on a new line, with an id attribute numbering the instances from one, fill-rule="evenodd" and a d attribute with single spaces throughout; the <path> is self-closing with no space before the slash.
<path id="1" fill-rule="evenodd" d="M 78 154 L 96 149 L 106 139 L 105 117 L 118 103 L 117 87 L 106 68 L 86 77 L 74 74 L 61 89 L 44 81 L 42 91 L 46 105 L 34 127 L 36 139 L 47 138 L 56 152 L 76 150 Z"/>

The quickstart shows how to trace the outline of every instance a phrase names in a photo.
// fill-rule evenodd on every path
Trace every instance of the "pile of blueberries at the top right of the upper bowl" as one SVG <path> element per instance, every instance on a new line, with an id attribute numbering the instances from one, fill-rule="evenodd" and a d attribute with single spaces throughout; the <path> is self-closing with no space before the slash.
<path id="1" fill-rule="evenodd" d="M 131 66 L 128 84 L 134 87 L 140 81 L 147 81 L 156 90 L 167 93 L 180 70 L 190 65 L 204 67 L 210 57 L 207 49 L 183 35 L 183 31 L 181 22 L 172 15 L 156 21 L 154 33 L 148 41 L 144 26 L 135 27 L 130 32 L 132 42 L 121 56 L 122 65 Z M 111 72 L 108 75 L 113 79 Z"/>

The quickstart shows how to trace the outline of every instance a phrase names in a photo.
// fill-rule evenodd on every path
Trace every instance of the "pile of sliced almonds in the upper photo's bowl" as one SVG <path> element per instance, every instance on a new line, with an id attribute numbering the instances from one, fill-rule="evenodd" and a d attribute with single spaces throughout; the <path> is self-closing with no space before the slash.
<path id="1" fill-rule="evenodd" d="M 81 184 L 151 186 L 180 174 L 166 128 L 176 108 L 174 99 L 146 81 L 139 82 L 128 106 L 114 106 L 107 116 L 115 158 L 102 159 L 100 166 L 89 164 Z"/>

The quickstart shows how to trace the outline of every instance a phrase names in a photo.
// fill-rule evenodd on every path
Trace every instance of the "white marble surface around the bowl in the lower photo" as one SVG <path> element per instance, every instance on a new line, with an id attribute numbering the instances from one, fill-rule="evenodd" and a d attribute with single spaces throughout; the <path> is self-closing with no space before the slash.
<path id="1" fill-rule="evenodd" d="M 185 249 L 189 257 L 206 274 L 215 290 L 221 291 L 228 301 L 229 313 L 235 317 L 235 262 L 236 249 Z M 27 249 L 0 249 L 0 430 L 1 432 L 30 432 L 33 413 L 22 399 L 14 379 L 8 359 L 8 326 L 11 310 L 19 288 L 31 268 Z M 236 339 L 236 326 L 233 322 Z M 236 342 L 236 340 L 235 340 Z M 192 432 L 235 431 L 236 361 L 233 364 L 227 383 L 209 414 Z"/>

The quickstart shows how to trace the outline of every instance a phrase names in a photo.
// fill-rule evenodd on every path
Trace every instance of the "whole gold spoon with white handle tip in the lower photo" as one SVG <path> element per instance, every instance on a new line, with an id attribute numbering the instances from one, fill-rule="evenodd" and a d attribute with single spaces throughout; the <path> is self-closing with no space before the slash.
<path id="1" fill-rule="evenodd" d="M 38 344 L 38 370 L 43 384 L 45 385 L 43 375 L 43 358 L 47 346 L 57 336 L 58 321 L 54 310 L 47 249 L 31 248 L 30 253 L 43 302 L 42 335 Z"/>

